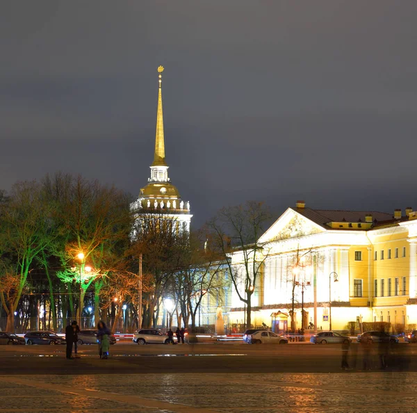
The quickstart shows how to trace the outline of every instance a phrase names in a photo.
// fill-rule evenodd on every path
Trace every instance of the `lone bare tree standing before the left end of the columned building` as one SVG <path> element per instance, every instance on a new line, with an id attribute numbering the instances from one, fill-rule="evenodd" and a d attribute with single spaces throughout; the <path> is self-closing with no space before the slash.
<path id="1" fill-rule="evenodd" d="M 252 295 L 269 254 L 268 243 L 259 242 L 259 237 L 270 218 L 263 203 L 250 201 L 221 209 L 206 224 L 209 245 L 227 263 L 238 298 L 246 305 L 247 327 L 251 326 Z"/>

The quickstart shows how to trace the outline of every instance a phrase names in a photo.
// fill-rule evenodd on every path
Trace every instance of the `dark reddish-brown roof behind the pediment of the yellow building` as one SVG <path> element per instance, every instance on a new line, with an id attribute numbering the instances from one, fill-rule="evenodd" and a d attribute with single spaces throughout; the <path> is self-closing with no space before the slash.
<path id="1" fill-rule="evenodd" d="M 377 222 L 393 220 L 391 213 L 379 211 L 341 211 L 337 209 L 291 208 L 307 219 L 328 228 L 328 222 L 366 222 L 366 215 L 371 215 Z"/>

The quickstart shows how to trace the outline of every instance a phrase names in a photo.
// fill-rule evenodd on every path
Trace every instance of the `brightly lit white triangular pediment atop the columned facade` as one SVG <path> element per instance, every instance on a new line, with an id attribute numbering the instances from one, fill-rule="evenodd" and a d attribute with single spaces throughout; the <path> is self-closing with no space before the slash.
<path id="1" fill-rule="evenodd" d="M 302 216 L 297 211 L 288 208 L 261 236 L 261 243 L 280 241 L 288 238 L 300 238 L 302 236 L 325 232 L 326 229 L 312 220 Z"/>

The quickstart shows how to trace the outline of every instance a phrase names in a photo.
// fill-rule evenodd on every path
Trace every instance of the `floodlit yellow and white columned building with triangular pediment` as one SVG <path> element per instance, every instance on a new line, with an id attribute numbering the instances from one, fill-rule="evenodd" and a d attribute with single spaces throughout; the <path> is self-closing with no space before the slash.
<path id="1" fill-rule="evenodd" d="M 349 322 L 417 323 L 417 213 L 288 208 L 261 236 L 265 261 L 252 298 L 252 324 L 276 331 L 304 325 L 346 330 Z M 238 265 L 239 252 L 233 254 Z M 304 297 L 302 297 L 304 295 Z M 231 323 L 243 323 L 235 293 Z M 302 307 L 304 320 L 302 321 Z"/>

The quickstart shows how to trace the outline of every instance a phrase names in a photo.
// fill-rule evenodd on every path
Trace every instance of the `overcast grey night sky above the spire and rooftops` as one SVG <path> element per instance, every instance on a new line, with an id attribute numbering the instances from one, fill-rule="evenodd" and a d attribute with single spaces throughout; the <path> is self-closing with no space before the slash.
<path id="1" fill-rule="evenodd" d="M 194 227 L 245 200 L 417 209 L 416 16 L 415 0 L 3 2 L 0 188 L 63 170 L 138 195 L 163 65 Z"/>

